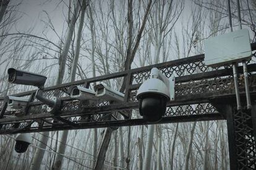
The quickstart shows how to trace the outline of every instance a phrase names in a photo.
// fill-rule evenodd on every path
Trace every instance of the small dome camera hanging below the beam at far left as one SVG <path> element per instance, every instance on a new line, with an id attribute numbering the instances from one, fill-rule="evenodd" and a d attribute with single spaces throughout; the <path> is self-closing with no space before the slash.
<path id="1" fill-rule="evenodd" d="M 32 137 L 30 134 L 19 134 L 15 141 L 15 151 L 17 153 L 24 153 L 27 151 L 28 146 L 32 143 Z"/>

